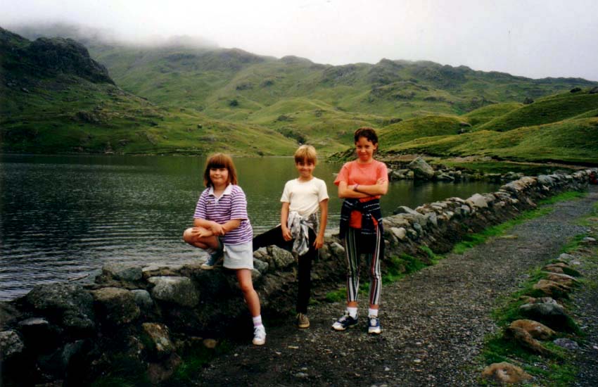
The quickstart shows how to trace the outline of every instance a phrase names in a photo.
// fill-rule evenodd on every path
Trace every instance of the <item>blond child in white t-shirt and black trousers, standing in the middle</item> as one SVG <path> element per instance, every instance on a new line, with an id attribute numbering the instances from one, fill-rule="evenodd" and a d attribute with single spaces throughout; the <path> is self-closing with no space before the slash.
<path id="1" fill-rule="evenodd" d="M 281 224 L 253 239 L 254 251 L 276 245 L 291 250 L 293 255 L 298 257 L 299 286 L 296 310 L 299 328 L 310 326 L 307 304 L 310 302 L 312 286 L 312 260 L 317 255 L 317 249 L 324 244 L 324 231 L 328 220 L 329 196 L 326 183 L 312 175 L 316 161 L 316 150 L 311 145 L 302 145 L 295 151 L 295 167 L 299 177 L 289 180 L 284 185 L 280 199 Z"/>

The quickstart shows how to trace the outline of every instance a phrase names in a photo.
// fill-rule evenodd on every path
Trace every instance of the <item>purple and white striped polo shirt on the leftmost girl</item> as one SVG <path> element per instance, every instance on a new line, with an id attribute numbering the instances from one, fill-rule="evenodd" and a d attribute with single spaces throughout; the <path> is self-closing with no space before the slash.
<path id="1" fill-rule="evenodd" d="M 214 196 L 214 188 L 204 189 L 195 208 L 193 218 L 212 220 L 224 224 L 231 219 L 240 219 L 241 224 L 222 236 L 229 245 L 247 243 L 253 239 L 253 229 L 247 216 L 247 199 L 240 186 L 229 184 L 222 196 Z"/>

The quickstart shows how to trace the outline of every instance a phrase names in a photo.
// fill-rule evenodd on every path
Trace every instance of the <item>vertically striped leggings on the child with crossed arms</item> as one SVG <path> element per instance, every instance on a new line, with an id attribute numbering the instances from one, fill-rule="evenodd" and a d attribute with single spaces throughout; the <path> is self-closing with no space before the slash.
<path id="1" fill-rule="evenodd" d="M 369 303 L 380 304 L 382 276 L 380 260 L 384 255 L 384 242 L 379 227 L 376 235 L 362 236 L 360 229 L 348 227 L 345 234 L 345 256 L 347 257 L 347 301 L 357 302 L 360 290 L 360 253 L 367 258 L 369 269 Z"/>

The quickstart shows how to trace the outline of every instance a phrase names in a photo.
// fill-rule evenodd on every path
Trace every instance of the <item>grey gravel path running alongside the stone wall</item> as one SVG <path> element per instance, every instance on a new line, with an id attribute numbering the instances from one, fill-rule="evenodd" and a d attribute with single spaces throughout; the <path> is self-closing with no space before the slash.
<path id="1" fill-rule="evenodd" d="M 336 332 L 331 324 L 344 305 L 314 305 L 309 329 L 296 329 L 290 318 L 276 326 L 266 321 L 265 346 L 236 346 L 214 360 L 197 384 L 476 385 L 481 369 L 472 360 L 484 336 L 497 329 L 490 312 L 516 290 L 528 270 L 558 257 L 569 238 L 586 230 L 575 220 L 590 213 L 596 201 L 598 189 L 593 188 L 586 198 L 557 203 L 548 215 L 507 231 L 509 238 L 492 239 L 464 255 L 448 255 L 438 265 L 384 286 L 384 331 L 379 336 L 367 335 L 364 310 L 357 327 Z M 595 293 L 583 299 L 593 303 L 597 319 Z M 597 385 L 595 379 L 593 383 Z"/>

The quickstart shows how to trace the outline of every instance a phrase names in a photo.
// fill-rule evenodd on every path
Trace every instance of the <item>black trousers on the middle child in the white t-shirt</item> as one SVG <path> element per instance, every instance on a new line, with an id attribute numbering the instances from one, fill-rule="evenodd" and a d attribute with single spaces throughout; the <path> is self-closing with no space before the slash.
<path id="1" fill-rule="evenodd" d="M 314 248 L 314 241 L 316 234 L 314 230 L 309 229 L 309 243 L 310 250 L 307 253 L 299 256 L 298 262 L 298 291 L 297 291 L 297 306 L 298 313 L 307 313 L 307 304 L 310 303 L 310 293 L 312 291 L 312 260 L 316 258 L 317 250 Z M 285 241 L 282 237 L 282 228 L 280 226 L 274 227 L 264 234 L 260 234 L 253 238 L 253 251 L 261 247 L 276 245 L 279 248 L 291 250 L 293 248 L 293 239 Z"/>

